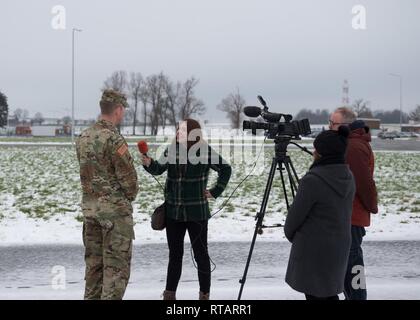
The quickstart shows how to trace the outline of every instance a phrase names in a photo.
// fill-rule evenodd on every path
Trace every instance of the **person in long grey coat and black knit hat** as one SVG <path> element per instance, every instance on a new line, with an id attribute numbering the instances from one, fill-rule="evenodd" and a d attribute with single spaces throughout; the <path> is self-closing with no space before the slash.
<path id="1" fill-rule="evenodd" d="M 355 184 L 345 164 L 348 128 L 323 131 L 300 180 L 284 233 L 292 243 L 286 282 L 308 300 L 338 300 L 351 245 Z"/>

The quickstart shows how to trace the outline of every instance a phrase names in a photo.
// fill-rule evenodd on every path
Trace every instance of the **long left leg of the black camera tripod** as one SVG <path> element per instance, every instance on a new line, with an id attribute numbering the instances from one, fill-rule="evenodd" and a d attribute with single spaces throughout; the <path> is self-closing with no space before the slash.
<path id="1" fill-rule="evenodd" d="M 239 280 L 239 283 L 241 284 L 241 288 L 239 289 L 238 300 L 241 300 L 241 297 L 242 297 L 242 291 L 244 289 L 244 285 L 245 285 L 245 282 L 246 282 L 246 276 L 248 274 L 248 268 L 249 268 L 249 264 L 251 262 L 252 252 L 254 251 L 255 240 L 257 239 L 258 231 L 259 231 L 260 227 L 262 226 L 262 222 L 264 220 L 265 210 L 267 208 L 268 197 L 270 195 L 271 187 L 273 185 L 273 179 L 274 179 L 274 174 L 276 173 L 276 168 L 277 168 L 277 160 L 276 160 L 276 158 L 274 158 L 273 162 L 271 163 L 270 174 L 268 176 L 267 184 L 265 186 L 265 191 L 264 191 L 263 201 L 261 203 L 261 208 L 260 208 L 260 211 L 257 213 L 257 215 L 255 217 L 255 219 L 257 220 L 257 223 L 255 224 L 254 235 L 252 237 L 251 248 L 249 249 L 249 254 L 248 254 L 248 259 L 246 261 L 244 274 L 243 274 L 241 280 Z"/>

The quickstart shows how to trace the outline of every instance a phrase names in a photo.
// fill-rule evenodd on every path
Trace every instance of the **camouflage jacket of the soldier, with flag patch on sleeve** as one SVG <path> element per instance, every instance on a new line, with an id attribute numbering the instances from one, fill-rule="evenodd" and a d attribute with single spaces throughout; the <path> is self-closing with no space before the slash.
<path id="1" fill-rule="evenodd" d="M 125 139 L 113 123 L 99 120 L 76 141 L 85 217 L 110 219 L 133 212 L 137 173 Z"/>

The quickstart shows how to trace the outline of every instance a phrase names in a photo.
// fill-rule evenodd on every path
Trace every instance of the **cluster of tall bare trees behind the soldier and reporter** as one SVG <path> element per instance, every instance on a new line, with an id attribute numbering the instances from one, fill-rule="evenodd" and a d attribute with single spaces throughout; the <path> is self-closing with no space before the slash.
<path id="1" fill-rule="evenodd" d="M 204 102 L 195 92 L 198 83 L 199 80 L 193 76 L 183 82 L 174 82 L 163 72 L 143 77 L 140 72 L 120 70 L 105 80 L 102 89 L 114 89 L 127 95 L 130 108 L 124 120 L 132 124 L 133 135 L 136 134 L 140 113 L 143 134 L 150 126 L 151 134 L 156 135 L 160 127 L 176 126 L 181 119 L 204 114 Z"/>

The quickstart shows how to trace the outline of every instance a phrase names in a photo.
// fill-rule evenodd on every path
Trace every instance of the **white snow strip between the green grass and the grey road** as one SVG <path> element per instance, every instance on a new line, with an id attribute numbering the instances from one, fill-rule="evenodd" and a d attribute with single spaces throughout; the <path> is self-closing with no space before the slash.
<path id="1" fill-rule="evenodd" d="M 381 212 L 385 209 L 380 207 Z M 150 227 L 148 214 L 136 210 L 136 244 L 164 243 L 165 232 L 154 231 Z M 365 240 L 420 240 L 420 224 L 410 222 L 413 213 L 388 214 L 373 216 L 372 226 L 367 228 Z M 266 225 L 282 223 L 283 214 L 271 215 L 265 219 Z M 401 221 L 408 221 L 401 223 Z M 73 215 L 57 215 L 54 219 L 32 219 L 23 213 L 16 213 L 13 218 L 1 221 L 0 246 L 25 244 L 81 244 L 82 223 Z M 253 216 L 229 213 L 226 217 L 214 217 L 209 222 L 209 241 L 251 241 L 255 228 Z M 286 241 L 281 228 L 265 229 L 258 241 Z"/>

